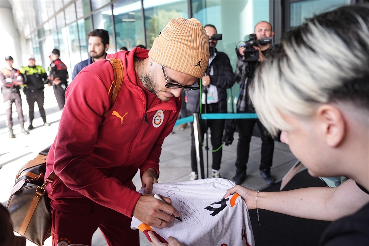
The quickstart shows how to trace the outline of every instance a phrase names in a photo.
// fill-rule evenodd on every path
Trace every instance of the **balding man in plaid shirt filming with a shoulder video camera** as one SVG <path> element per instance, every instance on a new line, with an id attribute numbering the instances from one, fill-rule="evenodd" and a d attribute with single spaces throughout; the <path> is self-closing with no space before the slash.
<path id="1" fill-rule="evenodd" d="M 249 95 L 248 95 L 248 80 L 251 80 L 256 67 L 260 62 L 263 62 L 265 56 L 272 49 L 272 44 L 258 44 L 258 41 L 262 38 L 271 38 L 274 35 L 272 30 L 272 25 L 269 22 L 261 21 L 255 25 L 256 42 L 252 46 L 255 54 L 259 51 L 259 59 L 254 61 L 249 61 L 250 59 L 245 59 L 246 47 L 241 46 L 238 49 L 241 58 L 237 59 L 237 68 L 235 71 L 236 81 L 241 85 L 239 97 L 237 101 L 237 112 L 238 113 L 254 113 L 255 109 L 252 105 Z M 252 35 L 250 35 L 252 36 Z M 248 54 L 248 53 L 247 53 Z M 248 61 L 245 61 L 248 60 Z M 251 59 L 252 60 L 252 59 Z M 261 134 L 261 164 L 260 164 L 260 175 L 266 184 L 273 184 L 275 179 L 270 174 L 270 167 L 272 166 L 273 151 L 274 151 L 274 140 L 265 130 L 259 119 L 237 119 L 236 126 L 238 128 L 239 139 L 237 143 L 237 159 L 236 159 L 236 173 L 233 177 L 233 181 L 236 184 L 242 184 L 246 179 L 246 164 L 249 159 L 249 149 L 252 132 L 254 130 L 255 123 L 258 125 Z"/>

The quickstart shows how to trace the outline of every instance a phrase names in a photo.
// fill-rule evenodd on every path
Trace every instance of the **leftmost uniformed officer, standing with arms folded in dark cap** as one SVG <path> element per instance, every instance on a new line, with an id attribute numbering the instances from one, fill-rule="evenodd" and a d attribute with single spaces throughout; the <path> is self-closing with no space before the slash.
<path id="1" fill-rule="evenodd" d="M 24 80 L 19 70 L 13 67 L 13 57 L 6 56 L 5 61 L 7 66 L 3 67 L 0 71 L 0 80 L 2 82 L 1 93 L 4 96 L 4 105 L 6 105 L 6 126 L 9 128 L 9 138 L 15 138 L 13 133 L 13 119 L 11 117 L 11 107 L 13 103 L 15 103 L 15 107 L 17 108 L 18 120 L 22 132 L 25 135 L 29 134 L 29 132 L 24 129 L 22 99 L 19 91 L 20 85 L 23 85 Z"/>

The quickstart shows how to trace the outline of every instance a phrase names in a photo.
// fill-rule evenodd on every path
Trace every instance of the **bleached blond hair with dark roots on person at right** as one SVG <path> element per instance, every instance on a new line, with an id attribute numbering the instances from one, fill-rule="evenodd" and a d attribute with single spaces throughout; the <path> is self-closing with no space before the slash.
<path id="1" fill-rule="evenodd" d="M 290 130 L 281 114 L 310 117 L 324 103 L 369 112 L 369 8 L 345 6 L 290 31 L 258 67 L 249 94 L 268 131 Z"/>

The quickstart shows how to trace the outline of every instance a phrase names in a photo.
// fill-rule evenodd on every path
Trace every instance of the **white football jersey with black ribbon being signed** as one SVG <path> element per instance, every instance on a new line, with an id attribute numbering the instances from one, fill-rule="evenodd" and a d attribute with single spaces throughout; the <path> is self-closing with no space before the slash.
<path id="1" fill-rule="evenodd" d="M 184 245 L 254 246 L 249 213 L 244 200 L 237 194 L 223 198 L 235 183 L 227 179 L 200 179 L 179 183 L 154 184 L 152 194 L 172 199 L 180 211 L 182 222 L 175 219 L 159 229 L 132 218 L 131 228 L 142 231 L 151 242 L 147 231 L 164 243 L 169 236 Z M 139 190 L 144 194 L 144 189 Z"/>

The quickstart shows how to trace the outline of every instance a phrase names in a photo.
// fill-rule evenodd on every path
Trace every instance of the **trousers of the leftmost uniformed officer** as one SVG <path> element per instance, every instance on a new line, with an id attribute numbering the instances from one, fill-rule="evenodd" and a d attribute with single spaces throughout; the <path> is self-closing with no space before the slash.
<path id="1" fill-rule="evenodd" d="M 23 110 L 22 110 L 22 99 L 20 92 L 13 92 L 13 93 L 4 93 L 4 105 L 6 109 L 6 126 L 8 128 L 13 127 L 13 118 L 11 117 L 11 107 L 13 103 L 15 103 L 15 108 L 17 108 L 18 112 L 18 120 L 19 124 L 24 124 L 24 117 L 23 117 Z"/>

